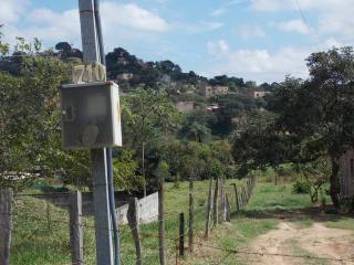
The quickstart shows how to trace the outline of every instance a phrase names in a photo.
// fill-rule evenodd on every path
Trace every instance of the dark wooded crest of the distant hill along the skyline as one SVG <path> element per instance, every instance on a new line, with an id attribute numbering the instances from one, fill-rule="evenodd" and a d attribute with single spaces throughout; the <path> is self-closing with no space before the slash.
<path id="1" fill-rule="evenodd" d="M 82 52 L 72 47 L 67 42 L 60 42 L 55 45 L 54 52 L 45 52 L 44 55 L 54 56 L 59 60 L 82 61 Z M 12 56 L 2 57 L 0 61 L 0 71 L 20 74 L 21 57 L 23 54 L 14 53 Z M 116 47 L 106 55 L 107 77 L 116 81 L 121 87 L 128 92 L 129 89 L 145 85 L 156 87 L 165 85 L 171 94 L 196 93 L 206 86 L 228 87 L 231 93 L 249 91 L 271 91 L 277 84 L 262 84 L 258 86 L 256 82 L 244 82 L 241 77 L 229 77 L 227 75 L 207 78 L 195 72 L 183 72 L 181 67 L 174 62 L 158 61 L 144 62 L 123 47 Z"/>

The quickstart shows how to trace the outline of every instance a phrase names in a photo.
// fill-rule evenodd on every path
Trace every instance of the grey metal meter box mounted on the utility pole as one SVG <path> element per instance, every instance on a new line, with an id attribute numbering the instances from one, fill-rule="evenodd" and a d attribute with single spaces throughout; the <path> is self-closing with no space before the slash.
<path id="1" fill-rule="evenodd" d="M 79 150 L 122 146 L 118 89 L 113 82 L 61 87 L 64 148 Z"/>

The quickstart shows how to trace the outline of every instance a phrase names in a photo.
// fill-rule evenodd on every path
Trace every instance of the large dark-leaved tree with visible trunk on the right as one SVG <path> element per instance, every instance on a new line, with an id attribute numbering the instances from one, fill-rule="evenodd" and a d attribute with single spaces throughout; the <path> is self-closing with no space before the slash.
<path id="1" fill-rule="evenodd" d="M 308 67 L 309 80 L 287 77 L 274 89 L 268 106 L 277 114 L 274 119 L 254 131 L 244 130 L 235 141 L 233 155 L 239 162 L 258 167 L 329 157 L 330 194 L 339 208 L 339 159 L 354 145 L 353 49 L 313 53 Z"/>

